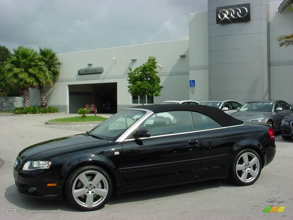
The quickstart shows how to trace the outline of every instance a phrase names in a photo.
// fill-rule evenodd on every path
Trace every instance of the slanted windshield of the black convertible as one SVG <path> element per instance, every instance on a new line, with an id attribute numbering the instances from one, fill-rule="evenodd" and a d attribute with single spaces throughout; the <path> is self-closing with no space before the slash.
<path id="1" fill-rule="evenodd" d="M 140 119 L 145 111 L 121 110 L 88 132 L 103 140 L 115 141 L 127 128 Z"/>

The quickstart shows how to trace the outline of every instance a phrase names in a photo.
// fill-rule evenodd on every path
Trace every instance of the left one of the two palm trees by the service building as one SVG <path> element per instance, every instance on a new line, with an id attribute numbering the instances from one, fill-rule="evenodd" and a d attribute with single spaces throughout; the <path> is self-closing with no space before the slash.
<path id="1" fill-rule="evenodd" d="M 24 106 L 30 106 L 30 87 L 36 87 L 44 74 L 46 67 L 40 61 L 38 53 L 30 48 L 18 47 L 13 49 L 14 54 L 7 60 L 4 67 L 8 82 L 23 88 Z"/>

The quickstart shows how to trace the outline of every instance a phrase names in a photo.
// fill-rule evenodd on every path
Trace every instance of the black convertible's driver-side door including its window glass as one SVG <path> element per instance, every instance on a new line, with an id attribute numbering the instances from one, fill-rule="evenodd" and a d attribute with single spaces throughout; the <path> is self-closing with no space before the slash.
<path id="1" fill-rule="evenodd" d="M 171 123 L 167 123 L 167 117 L 172 118 Z M 153 123 L 149 124 L 150 121 Z M 125 186 L 196 178 L 202 150 L 200 136 L 193 131 L 191 112 L 158 113 L 154 120 L 147 119 L 139 128 L 149 130 L 151 136 L 133 139 L 130 135 L 123 142 Z"/>

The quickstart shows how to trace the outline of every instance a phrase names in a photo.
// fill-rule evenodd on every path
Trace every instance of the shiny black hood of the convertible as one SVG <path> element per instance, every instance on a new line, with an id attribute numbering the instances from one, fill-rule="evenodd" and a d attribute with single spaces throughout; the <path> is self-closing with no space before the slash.
<path id="1" fill-rule="evenodd" d="M 66 147 L 78 147 L 78 149 L 86 148 L 88 144 L 92 142 L 96 142 L 95 145 L 103 145 L 103 143 L 105 143 L 105 141 L 96 139 L 92 136 L 77 134 L 72 136 L 55 138 L 31 145 L 23 149 L 18 155 L 21 158 L 21 160 L 25 160 L 26 158 L 33 157 L 34 155 L 40 153 L 48 154 L 48 152 L 52 150 L 61 152 Z"/>

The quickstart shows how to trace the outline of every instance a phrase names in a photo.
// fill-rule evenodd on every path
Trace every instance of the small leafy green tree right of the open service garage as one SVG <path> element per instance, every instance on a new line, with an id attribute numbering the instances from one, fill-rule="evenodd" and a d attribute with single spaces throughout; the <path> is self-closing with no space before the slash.
<path id="1" fill-rule="evenodd" d="M 145 103 L 145 97 L 160 96 L 163 87 L 160 85 L 161 79 L 156 74 L 157 61 L 156 57 L 149 56 L 147 62 L 132 70 L 129 67 L 128 72 L 128 92 L 132 96 L 140 96 L 143 98 L 142 105 Z"/>

